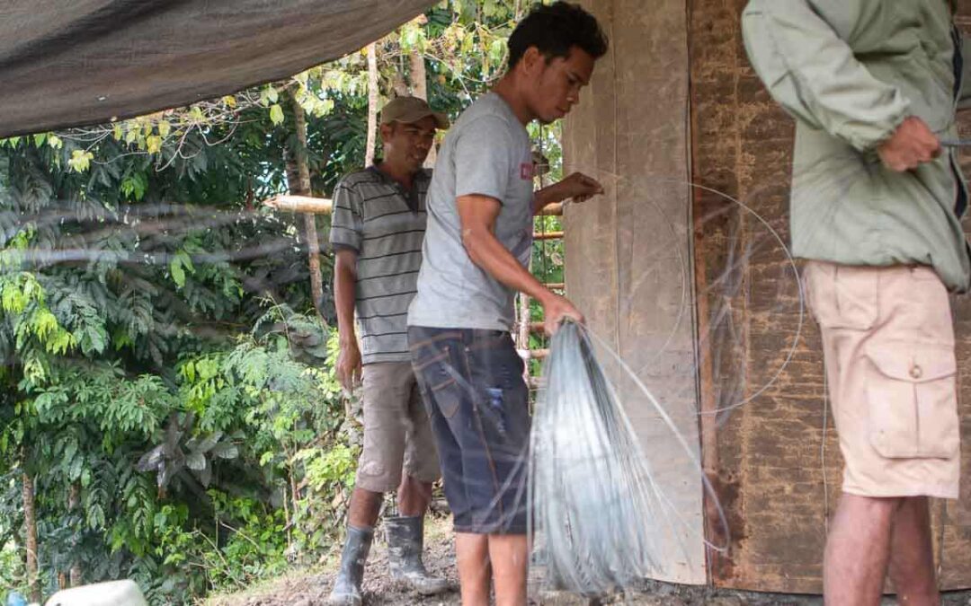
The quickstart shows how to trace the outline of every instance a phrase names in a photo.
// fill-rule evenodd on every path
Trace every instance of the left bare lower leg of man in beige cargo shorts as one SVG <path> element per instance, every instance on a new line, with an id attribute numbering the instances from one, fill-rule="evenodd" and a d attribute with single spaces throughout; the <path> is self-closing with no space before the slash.
<path id="1" fill-rule="evenodd" d="M 887 577 L 890 525 L 899 498 L 843 494 L 822 562 L 827 606 L 877 606 Z"/>

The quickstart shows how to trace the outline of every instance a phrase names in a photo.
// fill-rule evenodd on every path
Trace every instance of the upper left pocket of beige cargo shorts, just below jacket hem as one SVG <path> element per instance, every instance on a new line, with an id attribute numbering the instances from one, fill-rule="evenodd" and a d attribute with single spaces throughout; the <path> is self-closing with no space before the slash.
<path id="1" fill-rule="evenodd" d="M 811 261 L 803 271 L 809 306 L 820 326 L 867 331 L 880 315 L 879 270 Z"/>

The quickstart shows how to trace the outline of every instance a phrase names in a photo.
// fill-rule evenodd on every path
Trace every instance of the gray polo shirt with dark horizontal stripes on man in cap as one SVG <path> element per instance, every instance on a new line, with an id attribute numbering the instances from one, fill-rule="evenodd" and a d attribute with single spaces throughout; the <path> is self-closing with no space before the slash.
<path id="1" fill-rule="evenodd" d="M 334 188 L 330 243 L 357 252 L 357 324 L 364 364 L 408 362 L 408 305 L 415 297 L 431 171 L 412 190 L 375 167 Z"/>

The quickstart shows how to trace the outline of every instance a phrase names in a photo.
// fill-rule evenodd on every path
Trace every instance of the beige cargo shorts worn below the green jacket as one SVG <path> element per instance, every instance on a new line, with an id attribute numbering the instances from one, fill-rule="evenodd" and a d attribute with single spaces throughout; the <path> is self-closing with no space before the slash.
<path id="1" fill-rule="evenodd" d="M 956 498 L 954 323 L 937 273 L 810 261 L 803 283 L 822 334 L 843 491 Z"/>

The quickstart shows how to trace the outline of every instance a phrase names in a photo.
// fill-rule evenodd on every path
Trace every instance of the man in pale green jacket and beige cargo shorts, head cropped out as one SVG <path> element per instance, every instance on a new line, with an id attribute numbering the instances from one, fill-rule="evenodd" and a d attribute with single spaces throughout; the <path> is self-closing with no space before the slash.
<path id="1" fill-rule="evenodd" d="M 966 291 L 952 147 L 960 37 L 946 0 L 752 0 L 753 67 L 796 118 L 790 230 L 820 324 L 846 467 L 827 604 L 938 604 L 927 496 L 956 498 L 948 291 Z"/>

